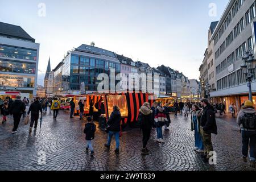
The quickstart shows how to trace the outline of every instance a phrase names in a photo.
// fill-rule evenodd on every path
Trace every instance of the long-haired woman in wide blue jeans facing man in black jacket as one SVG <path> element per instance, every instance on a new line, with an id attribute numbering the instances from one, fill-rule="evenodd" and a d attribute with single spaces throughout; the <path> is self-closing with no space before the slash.
<path id="1" fill-rule="evenodd" d="M 204 152 L 203 138 L 200 132 L 200 119 L 203 109 L 199 106 L 193 104 L 191 107 L 191 131 L 195 131 L 195 151 Z"/>

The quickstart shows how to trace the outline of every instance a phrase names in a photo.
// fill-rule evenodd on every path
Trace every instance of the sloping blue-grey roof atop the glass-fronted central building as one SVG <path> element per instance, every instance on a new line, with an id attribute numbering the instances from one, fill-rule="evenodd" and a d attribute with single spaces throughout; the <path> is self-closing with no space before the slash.
<path id="1" fill-rule="evenodd" d="M 89 46 L 86 44 L 82 44 L 78 48 L 76 48 L 76 51 L 85 51 L 89 53 L 100 53 L 101 55 L 109 56 L 109 57 L 114 57 L 117 58 L 114 52 L 108 51 L 106 49 L 94 47 L 94 46 Z"/>

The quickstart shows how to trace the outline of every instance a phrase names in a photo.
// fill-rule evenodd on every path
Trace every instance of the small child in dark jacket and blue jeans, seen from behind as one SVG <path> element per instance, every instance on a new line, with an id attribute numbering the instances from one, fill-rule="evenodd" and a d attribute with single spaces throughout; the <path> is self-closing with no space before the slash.
<path id="1" fill-rule="evenodd" d="M 92 118 L 87 118 L 88 123 L 85 124 L 84 133 L 85 133 L 85 140 L 86 140 L 86 152 L 88 152 L 90 148 L 90 156 L 94 155 L 93 147 L 92 147 L 92 140 L 94 139 L 94 134 L 96 131 L 96 125 L 92 122 Z"/>

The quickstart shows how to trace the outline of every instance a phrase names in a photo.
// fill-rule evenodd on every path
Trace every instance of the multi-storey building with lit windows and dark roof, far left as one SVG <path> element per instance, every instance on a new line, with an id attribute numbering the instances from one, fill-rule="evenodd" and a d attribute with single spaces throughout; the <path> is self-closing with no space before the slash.
<path id="1" fill-rule="evenodd" d="M 36 96 L 39 44 L 21 27 L 0 22 L 0 90 Z"/>

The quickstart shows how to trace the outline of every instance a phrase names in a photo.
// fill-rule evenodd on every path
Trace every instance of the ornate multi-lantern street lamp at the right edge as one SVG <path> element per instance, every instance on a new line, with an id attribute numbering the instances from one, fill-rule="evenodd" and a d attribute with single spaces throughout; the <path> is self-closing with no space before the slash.
<path id="1" fill-rule="evenodd" d="M 253 80 L 253 63 L 256 61 L 251 52 L 245 52 L 242 57 L 243 64 L 241 65 L 242 71 L 245 74 L 246 81 L 248 81 L 247 86 L 249 87 L 249 100 L 253 101 L 253 94 L 251 93 L 251 80 Z"/>

